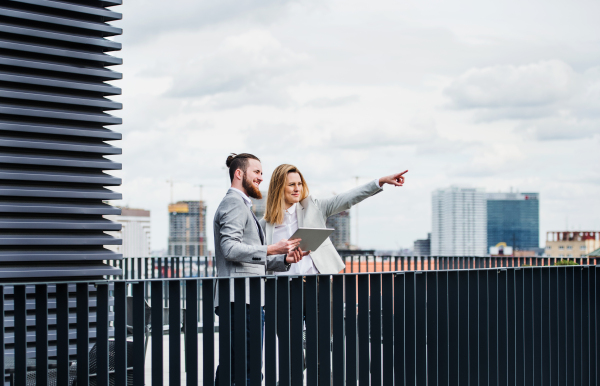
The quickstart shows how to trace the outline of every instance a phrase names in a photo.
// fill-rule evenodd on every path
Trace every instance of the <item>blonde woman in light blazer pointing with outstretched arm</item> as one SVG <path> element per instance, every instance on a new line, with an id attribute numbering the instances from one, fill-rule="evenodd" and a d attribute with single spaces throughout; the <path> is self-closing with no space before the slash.
<path id="1" fill-rule="evenodd" d="M 336 196 L 317 199 L 309 195 L 308 185 L 300 170 L 293 165 L 279 165 L 269 184 L 267 208 L 260 225 L 266 233 L 267 245 L 289 239 L 299 228 L 326 228 L 327 218 L 350 209 L 365 198 L 383 189 L 383 185 L 402 186 L 408 170 L 381 177 Z M 335 274 L 344 269 L 344 262 L 328 238 L 316 251 L 291 265 L 285 275 Z"/>

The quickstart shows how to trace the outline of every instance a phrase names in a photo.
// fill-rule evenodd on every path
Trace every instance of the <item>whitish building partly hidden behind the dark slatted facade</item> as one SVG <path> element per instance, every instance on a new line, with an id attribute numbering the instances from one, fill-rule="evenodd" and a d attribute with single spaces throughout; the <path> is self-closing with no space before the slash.
<path id="1" fill-rule="evenodd" d="M 121 215 L 107 215 L 106 219 L 121 224 L 120 231 L 106 232 L 123 240 L 122 245 L 107 245 L 106 248 L 123 257 L 150 256 L 150 211 L 145 209 L 121 208 Z"/>

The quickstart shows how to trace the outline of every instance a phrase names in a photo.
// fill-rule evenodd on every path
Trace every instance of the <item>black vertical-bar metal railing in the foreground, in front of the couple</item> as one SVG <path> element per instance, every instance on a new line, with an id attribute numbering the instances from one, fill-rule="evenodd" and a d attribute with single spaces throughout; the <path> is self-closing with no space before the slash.
<path id="1" fill-rule="evenodd" d="M 56 377 L 60 385 L 73 379 L 77 385 L 162 385 L 168 371 L 168 382 L 173 385 L 181 383 L 184 365 L 186 385 L 202 382 L 208 386 L 213 385 L 219 363 L 221 385 L 230 385 L 230 364 L 235 363 L 236 385 L 245 384 L 247 368 L 252 383 L 260 384 L 261 339 L 256 316 L 260 316 L 264 286 L 262 372 L 266 385 L 302 385 L 303 376 L 309 385 L 336 386 L 597 385 L 599 270 L 595 266 L 502 267 L 304 278 L 79 282 L 76 304 L 62 299 L 63 306 L 56 311 L 59 342 L 69 342 L 70 325 L 74 324 L 74 359 L 68 355 L 68 343 L 59 344 L 56 355 L 44 343 L 43 299 L 49 284 L 36 285 L 39 297 L 33 309 L 24 296 L 27 286 L 15 284 L 15 368 L 11 379 L 15 385 L 47 385 L 50 377 Z M 237 305 L 244 304 L 248 280 L 248 311 L 244 306 L 229 307 L 230 280 Z M 179 291 L 183 290 L 186 300 L 171 301 L 165 307 L 164 283 L 172 299 L 182 299 Z M 90 286 L 97 289 L 93 356 Z M 4 290 L 6 285 L 0 288 Z M 218 318 L 214 315 L 215 290 L 220 292 Z M 4 306 L 5 296 L 1 298 Z M 246 326 L 238 322 L 246 320 L 246 312 L 251 316 L 248 345 Z M 33 350 L 27 344 L 29 315 L 35 315 L 33 326 L 38 334 Z M 69 321 L 73 315 L 74 323 Z M 224 328 L 232 319 L 236 321 L 233 337 L 230 329 Z M 6 339 L 5 325 L 3 328 Z M 169 335 L 168 350 L 164 334 Z M 152 354 L 146 361 L 148 343 Z M 246 362 L 246 350 L 254 354 L 252 363 Z M 28 369 L 27 358 L 33 361 L 33 368 Z"/>

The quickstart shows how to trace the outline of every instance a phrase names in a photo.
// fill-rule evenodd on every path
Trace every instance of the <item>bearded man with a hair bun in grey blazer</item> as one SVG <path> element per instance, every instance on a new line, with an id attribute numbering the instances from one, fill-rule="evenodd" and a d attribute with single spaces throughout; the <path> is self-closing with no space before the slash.
<path id="1" fill-rule="evenodd" d="M 267 245 L 265 234 L 258 219 L 252 212 L 252 201 L 250 197 L 261 199 L 262 195 L 258 189 L 262 182 L 262 165 L 260 160 L 248 153 L 231 154 L 227 157 L 226 165 L 229 168 L 231 187 L 219 204 L 214 220 L 215 235 L 215 261 L 217 265 L 217 276 L 264 276 L 266 271 L 287 271 L 290 265 L 297 263 L 302 256 L 308 254 L 298 247 L 299 239 L 283 239 L 277 244 Z M 248 197 L 250 196 L 250 197 Z M 248 294 L 248 282 L 246 281 L 246 294 Z M 215 313 L 219 315 L 218 291 L 215 291 Z M 246 326 L 249 320 L 249 296 L 246 296 Z M 234 344 L 234 294 L 233 282 L 230 284 L 231 303 L 231 380 L 235 382 L 235 363 L 243 359 L 235 357 Z M 264 303 L 264 300 L 263 300 Z M 261 304 L 264 305 L 264 304 Z M 264 310 L 262 311 L 262 330 L 264 329 Z M 249 341 L 250 334 L 247 334 Z M 261 339 L 262 342 L 262 339 Z M 249 342 L 248 342 L 249 343 Z M 249 362 L 250 352 L 247 350 L 246 363 Z M 262 357 L 262 355 L 261 355 Z M 262 368 L 262 361 L 261 361 Z M 250 368 L 247 367 L 247 385 L 250 385 Z M 215 378 L 215 386 L 219 385 L 219 367 Z"/>

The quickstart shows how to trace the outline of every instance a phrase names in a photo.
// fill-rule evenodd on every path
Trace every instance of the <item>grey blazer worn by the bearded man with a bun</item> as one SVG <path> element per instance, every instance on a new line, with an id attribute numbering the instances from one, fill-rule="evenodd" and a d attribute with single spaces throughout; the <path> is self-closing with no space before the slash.
<path id="1" fill-rule="evenodd" d="M 215 261 L 218 277 L 261 276 L 269 271 L 286 271 L 286 255 L 267 256 L 266 237 L 242 196 L 229 190 L 219 204 L 214 220 Z M 233 301 L 233 281 L 230 283 Z M 215 306 L 219 305 L 215 290 Z M 246 302 L 249 303 L 246 281 Z"/>

